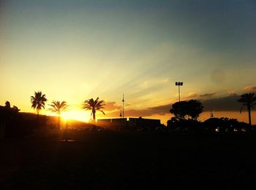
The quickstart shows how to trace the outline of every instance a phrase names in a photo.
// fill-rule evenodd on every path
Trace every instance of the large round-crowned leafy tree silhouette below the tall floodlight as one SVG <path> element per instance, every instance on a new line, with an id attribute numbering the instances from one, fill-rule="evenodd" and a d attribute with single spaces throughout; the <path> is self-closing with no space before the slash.
<path id="1" fill-rule="evenodd" d="M 197 100 L 176 102 L 170 109 L 170 113 L 176 116 L 176 119 L 193 119 L 203 112 L 203 105 Z"/>

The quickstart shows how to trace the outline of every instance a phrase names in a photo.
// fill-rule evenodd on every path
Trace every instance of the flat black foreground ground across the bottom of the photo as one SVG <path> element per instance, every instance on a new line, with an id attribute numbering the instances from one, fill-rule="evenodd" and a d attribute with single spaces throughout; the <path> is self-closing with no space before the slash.
<path id="1" fill-rule="evenodd" d="M 77 132 L 0 142 L 0 189 L 256 189 L 256 136 Z"/>

